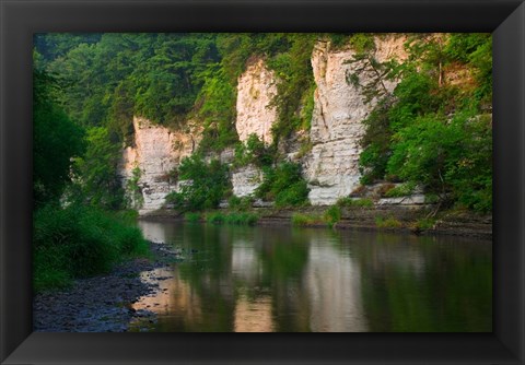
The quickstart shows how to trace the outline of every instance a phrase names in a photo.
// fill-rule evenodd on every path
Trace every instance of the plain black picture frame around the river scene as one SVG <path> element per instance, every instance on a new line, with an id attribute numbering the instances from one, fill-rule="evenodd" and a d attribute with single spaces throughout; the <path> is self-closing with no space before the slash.
<path id="1" fill-rule="evenodd" d="M 0 0 L 2 364 L 524 364 L 525 4 L 518 0 Z M 32 333 L 39 32 L 492 32 L 492 333 Z"/>

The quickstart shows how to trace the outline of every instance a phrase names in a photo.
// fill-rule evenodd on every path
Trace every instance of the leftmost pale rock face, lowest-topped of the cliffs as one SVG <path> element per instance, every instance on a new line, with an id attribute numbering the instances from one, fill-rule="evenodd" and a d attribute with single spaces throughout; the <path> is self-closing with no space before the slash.
<path id="1" fill-rule="evenodd" d="M 156 210 L 164 198 L 176 189 L 168 173 L 178 166 L 180 160 L 190 155 L 197 148 L 199 133 L 172 131 L 155 126 L 148 119 L 133 117 L 135 148 L 128 146 L 122 153 L 120 175 L 122 184 L 132 177 L 132 170 L 140 168 L 139 187 L 143 205 L 139 213 Z M 192 137 L 194 136 L 194 137 Z"/>

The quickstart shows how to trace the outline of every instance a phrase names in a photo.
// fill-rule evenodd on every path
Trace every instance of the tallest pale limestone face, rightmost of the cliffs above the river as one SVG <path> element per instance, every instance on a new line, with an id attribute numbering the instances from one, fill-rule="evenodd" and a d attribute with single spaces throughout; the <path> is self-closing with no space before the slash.
<path id="1" fill-rule="evenodd" d="M 400 36 L 375 38 L 375 59 L 406 57 Z M 312 152 L 304 161 L 312 204 L 332 204 L 359 186 L 360 140 L 364 133 L 363 120 L 372 111 L 375 101 L 363 101 L 362 89 L 347 82 L 362 64 L 346 63 L 354 56 L 352 49 L 330 49 L 329 42 L 318 42 L 312 55 L 317 90 L 314 94 L 314 113 L 310 138 Z M 372 72 L 359 74 L 360 84 L 366 84 Z M 384 82 L 388 91 L 395 81 Z"/>

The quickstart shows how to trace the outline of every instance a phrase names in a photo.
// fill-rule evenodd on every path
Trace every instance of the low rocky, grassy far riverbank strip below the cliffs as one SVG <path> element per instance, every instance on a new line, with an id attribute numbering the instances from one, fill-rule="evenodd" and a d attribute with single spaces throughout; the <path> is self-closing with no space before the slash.
<path id="1" fill-rule="evenodd" d="M 434 214 L 432 207 L 376 205 L 304 207 L 296 209 L 257 208 L 247 212 L 258 216 L 257 225 L 299 225 L 332 227 L 336 229 L 387 231 L 416 235 L 447 235 L 492 239 L 492 215 L 464 210 L 441 211 Z M 219 209 L 201 213 L 231 214 L 232 210 Z M 143 213 L 142 220 L 184 220 L 185 215 L 171 209 Z"/>

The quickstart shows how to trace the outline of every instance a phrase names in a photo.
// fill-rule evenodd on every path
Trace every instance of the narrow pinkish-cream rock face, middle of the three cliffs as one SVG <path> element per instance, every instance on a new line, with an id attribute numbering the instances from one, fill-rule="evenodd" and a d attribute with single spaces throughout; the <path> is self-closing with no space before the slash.
<path id="1" fill-rule="evenodd" d="M 277 111 L 270 102 L 276 93 L 276 75 L 262 60 L 250 64 L 238 78 L 235 127 L 241 141 L 256 133 L 265 143 L 271 143 Z"/>

